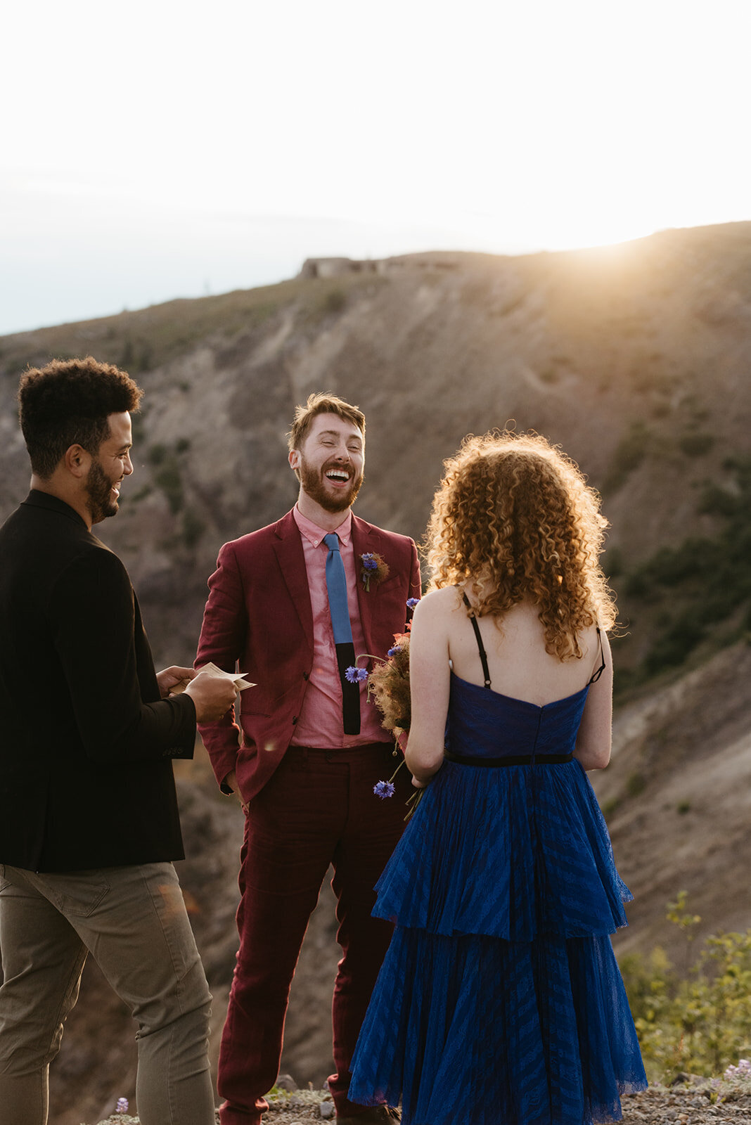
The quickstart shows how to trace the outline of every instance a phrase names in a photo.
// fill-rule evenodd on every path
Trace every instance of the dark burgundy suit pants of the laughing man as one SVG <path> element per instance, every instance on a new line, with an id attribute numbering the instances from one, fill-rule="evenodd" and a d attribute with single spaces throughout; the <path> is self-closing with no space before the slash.
<path id="1" fill-rule="evenodd" d="M 340 1116 L 363 1112 L 346 1098 L 350 1060 L 392 933 L 390 922 L 370 916 L 373 886 L 401 835 L 411 793 L 406 767 L 393 796 L 380 800 L 373 785 L 397 764 L 390 742 L 350 750 L 290 747 L 251 802 L 241 854 L 239 950 L 219 1053 L 221 1125 L 257 1125 L 269 1108 L 264 1094 L 279 1073 L 290 984 L 329 864 L 343 951 L 329 1087 Z"/>

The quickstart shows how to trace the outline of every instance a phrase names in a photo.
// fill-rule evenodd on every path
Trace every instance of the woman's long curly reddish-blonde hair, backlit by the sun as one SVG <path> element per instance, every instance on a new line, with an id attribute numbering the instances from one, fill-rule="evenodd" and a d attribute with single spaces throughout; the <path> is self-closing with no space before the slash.
<path id="1" fill-rule="evenodd" d="M 530 598 L 548 651 L 580 657 L 582 629 L 616 618 L 599 565 L 608 524 L 598 494 L 534 433 L 465 438 L 444 467 L 425 536 L 432 587 L 471 582 L 479 616 Z"/>

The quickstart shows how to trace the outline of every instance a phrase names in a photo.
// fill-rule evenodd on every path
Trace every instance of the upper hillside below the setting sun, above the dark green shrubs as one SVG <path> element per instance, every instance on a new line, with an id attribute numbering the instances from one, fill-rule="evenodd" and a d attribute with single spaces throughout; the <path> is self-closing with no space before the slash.
<path id="1" fill-rule="evenodd" d="M 101 533 L 133 573 L 157 654 L 183 659 L 221 542 L 293 501 L 295 403 L 331 388 L 369 418 L 358 512 L 416 538 L 465 433 L 514 418 L 560 441 L 605 496 L 608 569 L 633 627 L 618 664 L 632 680 L 705 633 L 738 630 L 751 597 L 751 224 L 609 250 L 377 264 L 2 338 L 0 518 L 28 478 L 13 417 L 24 367 L 81 352 L 125 366 L 146 390 L 136 472 Z M 730 575 L 714 568 L 725 596 L 690 628 L 700 567 L 729 528 L 732 542 L 744 537 L 742 557 Z M 700 558 L 691 540 L 711 544 Z M 664 547 L 677 562 L 644 578 Z"/>

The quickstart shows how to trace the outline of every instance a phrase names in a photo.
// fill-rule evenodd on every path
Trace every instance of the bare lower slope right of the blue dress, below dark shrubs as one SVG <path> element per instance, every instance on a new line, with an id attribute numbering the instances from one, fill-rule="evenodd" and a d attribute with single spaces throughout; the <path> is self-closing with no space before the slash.
<path id="1" fill-rule="evenodd" d="M 590 776 L 635 896 L 618 953 L 660 943 L 681 964 L 684 938 L 664 921 L 679 890 L 702 916 L 699 942 L 751 927 L 738 893 L 751 865 L 750 683 L 742 641 L 616 716 L 613 760 Z"/>

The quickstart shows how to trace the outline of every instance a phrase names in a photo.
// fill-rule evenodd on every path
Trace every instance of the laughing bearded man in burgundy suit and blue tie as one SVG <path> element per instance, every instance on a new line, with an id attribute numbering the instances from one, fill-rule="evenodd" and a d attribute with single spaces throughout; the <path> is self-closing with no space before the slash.
<path id="1" fill-rule="evenodd" d="M 223 1125 L 259 1125 L 268 1109 L 295 965 L 329 864 L 343 950 L 329 1079 L 337 1122 L 398 1117 L 347 1100 L 350 1060 L 391 936 L 370 917 L 373 885 L 410 786 L 401 771 L 395 798 L 373 795 L 393 773 L 393 744 L 346 668 L 361 654 L 386 656 L 420 591 L 411 539 L 351 512 L 364 446 L 356 407 L 333 395 L 298 406 L 289 435 L 297 504 L 225 543 L 209 579 L 197 664 L 229 670 L 238 662 L 257 684 L 243 693 L 239 727 L 230 714 L 200 728 L 217 781 L 246 812 L 239 951 L 219 1055 Z"/>

